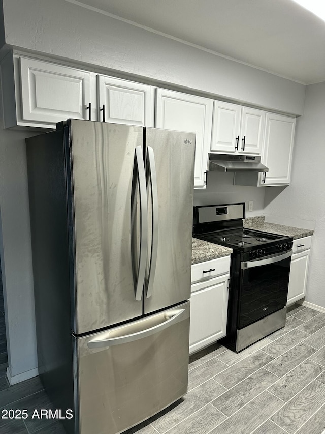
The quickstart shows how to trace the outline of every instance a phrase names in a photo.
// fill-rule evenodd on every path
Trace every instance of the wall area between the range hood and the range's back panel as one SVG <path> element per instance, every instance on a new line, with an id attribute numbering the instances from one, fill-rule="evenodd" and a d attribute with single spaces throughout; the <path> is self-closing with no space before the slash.
<path id="1" fill-rule="evenodd" d="M 208 172 L 207 188 L 194 190 L 194 205 L 245 202 L 247 217 L 263 214 L 265 188 L 233 185 L 233 180 L 234 173 Z M 249 201 L 253 211 L 248 211 Z"/>

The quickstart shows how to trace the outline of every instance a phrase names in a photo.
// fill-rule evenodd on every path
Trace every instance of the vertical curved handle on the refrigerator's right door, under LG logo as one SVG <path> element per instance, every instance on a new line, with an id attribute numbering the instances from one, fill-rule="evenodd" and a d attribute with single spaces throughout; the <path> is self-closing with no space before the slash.
<path id="1" fill-rule="evenodd" d="M 150 146 L 147 147 L 147 188 L 149 188 L 149 180 L 151 183 L 152 233 L 146 298 L 149 298 L 152 295 L 153 279 L 156 271 L 158 254 L 158 187 L 154 152 Z"/>

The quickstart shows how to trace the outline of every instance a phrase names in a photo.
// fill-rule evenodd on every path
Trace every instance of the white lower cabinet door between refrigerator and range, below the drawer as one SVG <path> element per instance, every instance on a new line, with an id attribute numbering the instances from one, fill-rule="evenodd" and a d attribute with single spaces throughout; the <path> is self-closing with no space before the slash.
<path id="1" fill-rule="evenodd" d="M 226 334 L 229 274 L 191 285 L 189 353 Z"/>

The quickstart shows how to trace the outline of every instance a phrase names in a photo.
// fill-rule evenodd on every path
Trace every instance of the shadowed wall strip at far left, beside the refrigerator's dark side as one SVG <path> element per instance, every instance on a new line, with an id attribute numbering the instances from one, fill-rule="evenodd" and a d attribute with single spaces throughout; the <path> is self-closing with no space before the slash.
<path id="1" fill-rule="evenodd" d="M 37 374 L 25 149 L 25 137 L 36 133 L 3 130 L 1 111 L 0 109 L 0 258 L 8 376 L 12 382 L 17 382 Z M 23 372 L 25 374 L 21 377 Z"/>

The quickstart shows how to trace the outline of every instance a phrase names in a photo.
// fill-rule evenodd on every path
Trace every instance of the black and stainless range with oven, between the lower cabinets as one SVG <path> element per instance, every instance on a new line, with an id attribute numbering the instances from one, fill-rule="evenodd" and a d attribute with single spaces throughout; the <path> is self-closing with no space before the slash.
<path id="1" fill-rule="evenodd" d="M 231 247 L 222 344 L 239 352 L 284 327 L 293 238 L 244 228 L 245 204 L 194 207 L 193 237 Z"/>

